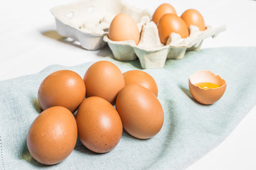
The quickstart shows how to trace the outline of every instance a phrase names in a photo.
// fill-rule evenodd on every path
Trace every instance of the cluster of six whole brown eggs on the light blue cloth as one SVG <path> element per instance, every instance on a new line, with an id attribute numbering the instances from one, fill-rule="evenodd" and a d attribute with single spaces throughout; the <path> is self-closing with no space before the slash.
<path id="1" fill-rule="evenodd" d="M 149 74 L 122 74 L 108 61 L 92 64 L 83 79 L 70 70 L 53 72 L 38 89 L 43 112 L 28 131 L 28 150 L 42 164 L 58 164 L 73 151 L 78 137 L 97 153 L 116 147 L 123 128 L 139 139 L 153 137 L 164 123 L 157 95 Z"/>

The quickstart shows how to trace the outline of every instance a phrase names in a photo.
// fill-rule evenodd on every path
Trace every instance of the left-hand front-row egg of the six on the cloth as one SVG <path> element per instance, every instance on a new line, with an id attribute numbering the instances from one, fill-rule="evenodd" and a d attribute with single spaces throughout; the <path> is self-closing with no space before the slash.
<path id="1" fill-rule="evenodd" d="M 27 146 L 41 164 L 58 164 L 75 148 L 78 128 L 74 115 L 61 106 L 48 108 L 33 121 Z"/>

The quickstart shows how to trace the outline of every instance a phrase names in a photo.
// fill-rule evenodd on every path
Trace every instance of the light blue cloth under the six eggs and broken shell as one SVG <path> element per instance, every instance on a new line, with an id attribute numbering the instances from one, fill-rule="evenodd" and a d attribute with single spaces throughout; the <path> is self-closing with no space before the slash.
<path id="1" fill-rule="evenodd" d="M 126 72 L 141 69 L 139 60 L 118 62 Z M 220 144 L 256 104 L 256 47 L 223 47 L 186 52 L 182 60 L 167 60 L 163 69 L 144 69 L 156 80 L 164 108 L 164 125 L 149 140 L 124 132 L 117 147 L 95 154 L 78 141 L 60 164 L 36 162 L 26 147 L 26 135 L 41 109 L 37 92 L 41 81 L 59 69 L 81 77 L 92 63 L 75 67 L 53 65 L 38 74 L 0 81 L 0 169 L 185 169 Z M 197 103 L 188 90 L 188 76 L 206 69 L 227 82 L 220 101 Z"/>

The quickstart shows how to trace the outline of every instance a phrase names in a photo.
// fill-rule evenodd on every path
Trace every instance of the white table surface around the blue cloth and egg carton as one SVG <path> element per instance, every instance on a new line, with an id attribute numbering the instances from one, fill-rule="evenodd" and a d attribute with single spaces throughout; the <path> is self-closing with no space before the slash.
<path id="1" fill-rule="evenodd" d="M 36 74 L 50 64 L 66 66 L 112 55 L 108 47 L 87 51 L 56 33 L 50 8 L 73 0 L 0 1 L 0 80 Z M 103 1 L 103 0 L 102 0 Z M 169 3 L 178 15 L 196 8 L 206 24 L 227 30 L 204 40 L 201 48 L 256 46 L 256 1 L 252 0 L 129 0 L 129 4 L 154 11 Z M 255 56 L 256 57 L 256 56 Z M 218 147 L 187 169 L 256 169 L 256 106 Z"/>

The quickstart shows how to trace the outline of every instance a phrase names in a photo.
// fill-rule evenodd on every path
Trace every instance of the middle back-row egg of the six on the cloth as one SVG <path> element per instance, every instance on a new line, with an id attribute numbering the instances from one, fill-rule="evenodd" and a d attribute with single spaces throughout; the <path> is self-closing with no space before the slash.
<path id="1" fill-rule="evenodd" d="M 112 62 L 100 61 L 92 64 L 83 78 L 86 96 L 99 96 L 114 104 L 117 93 L 124 87 L 121 70 Z"/>

